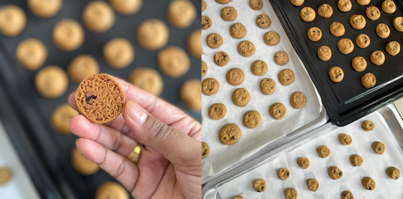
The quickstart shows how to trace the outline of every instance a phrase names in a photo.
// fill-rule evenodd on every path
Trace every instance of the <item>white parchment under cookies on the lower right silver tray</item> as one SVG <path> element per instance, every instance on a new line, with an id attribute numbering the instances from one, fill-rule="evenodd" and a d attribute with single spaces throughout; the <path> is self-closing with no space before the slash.
<path id="1" fill-rule="evenodd" d="M 371 120 L 375 129 L 366 132 L 361 129 L 364 120 Z M 353 143 L 348 146 L 341 145 L 338 136 L 340 133 L 349 134 Z M 372 150 L 372 143 L 380 141 L 385 144 L 385 153 L 378 155 Z M 327 158 L 320 158 L 316 148 L 326 145 L 330 149 Z M 353 167 L 349 161 L 352 154 L 363 157 L 364 162 L 360 167 Z M 299 157 L 307 157 L 310 166 L 302 169 L 297 165 Z M 332 180 L 327 175 L 330 166 L 337 166 L 343 171 L 343 177 Z M 313 140 L 300 148 L 291 151 L 280 158 L 255 168 L 242 176 L 218 187 L 222 198 L 231 198 L 241 194 L 244 198 L 284 198 L 284 191 L 295 188 L 298 198 L 340 198 L 344 190 L 350 190 L 355 198 L 401 198 L 403 195 L 403 176 L 392 180 L 386 175 L 386 169 L 394 166 L 403 171 L 403 153 L 394 140 L 390 129 L 379 113 L 373 113 L 346 127 L 338 128 L 322 137 Z M 290 170 L 287 180 L 277 177 L 277 170 L 286 167 Z M 363 188 L 361 180 L 370 176 L 375 180 L 376 187 L 373 191 Z M 263 178 L 267 187 L 264 192 L 258 193 L 253 190 L 254 178 Z M 306 180 L 313 178 L 319 182 L 319 190 L 309 191 Z"/>

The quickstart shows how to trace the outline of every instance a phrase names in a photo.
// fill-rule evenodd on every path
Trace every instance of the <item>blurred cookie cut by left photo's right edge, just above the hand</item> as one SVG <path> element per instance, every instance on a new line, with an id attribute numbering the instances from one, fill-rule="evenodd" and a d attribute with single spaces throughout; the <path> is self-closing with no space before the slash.
<path id="1" fill-rule="evenodd" d="M 179 97 L 185 106 L 192 111 L 201 110 L 201 82 L 199 79 L 186 80 L 180 86 Z"/>

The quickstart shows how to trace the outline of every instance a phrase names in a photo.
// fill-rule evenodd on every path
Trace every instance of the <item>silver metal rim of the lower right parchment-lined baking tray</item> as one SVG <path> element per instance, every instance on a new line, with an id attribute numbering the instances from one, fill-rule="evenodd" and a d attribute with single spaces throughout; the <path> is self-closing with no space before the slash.
<path id="1" fill-rule="evenodd" d="M 376 111 L 376 114 L 384 121 L 386 127 L 389 130 L 390 136 L 394 137 L 394 140 L 397 142 L 400 151 L 399 153 L 403 153 L 403 121 L 401 120 L 396 108 L 392 104 L 387 105 L 386 107 Z M 204 199 L 221 199 L 222 197 L 217 191 L 217 187 L 265 164 L 273 161 L 274 159 L 287 154 L 288 152 L 322 136 L 325 135 L 335 129 L 340 127 L 334 125 L 332 122 L 328 122 L 325 125 L 309 132 L 304 135 L 295 137 L 293 140 L 290 140 L 288 143 L 279 146 L 266 154 L 263 154 L 257 159 L 254 159 L 247 164 L 242 165 L 241 167 L 235 168 L 231 172 L 226 173 L 220 178 L 216 178 L 210 182 L 208 182 L 201 189 L 202 198 Z"/>

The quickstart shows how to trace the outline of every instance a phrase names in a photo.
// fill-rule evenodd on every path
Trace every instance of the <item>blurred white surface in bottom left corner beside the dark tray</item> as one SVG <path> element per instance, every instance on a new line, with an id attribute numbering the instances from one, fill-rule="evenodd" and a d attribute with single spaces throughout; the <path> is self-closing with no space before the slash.
<path id="1" fill-rule="evenodd" d="M 0 185 L 0 198 L 39 199 L 39 195 L 27 171 L 0 122 L 0 167 L 3 166 L 11 169 L 13 177 L 7 184 Z"/>

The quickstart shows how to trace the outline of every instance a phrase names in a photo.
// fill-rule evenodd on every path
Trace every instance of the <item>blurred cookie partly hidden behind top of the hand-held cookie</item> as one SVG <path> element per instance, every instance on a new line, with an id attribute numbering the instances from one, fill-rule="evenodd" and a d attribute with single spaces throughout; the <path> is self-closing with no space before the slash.
<path id="1" fill-rule="evenodd" d="M 98 74 L 99 65 L 93 56 L 79 55 L 69 63 L 67 73 L 71 80 L 76 83 L 81 83 L 87 77 Z"/>

